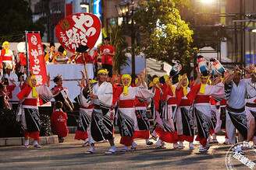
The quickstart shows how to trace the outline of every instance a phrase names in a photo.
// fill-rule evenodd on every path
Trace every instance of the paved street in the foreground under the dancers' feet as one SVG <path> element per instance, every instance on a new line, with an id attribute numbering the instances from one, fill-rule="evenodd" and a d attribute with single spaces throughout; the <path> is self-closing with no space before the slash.
<path id="1" fill-rule="evenodd" d="M 84 168 L 84 169 L 225 169 L 226 151 L 231 145 L 224 145 L 224 136 L 218 136 L 220 144 L 212 144 L 207 153 L 199 153 L 199 144 L 195 150 L 188 150 L 188 143 L 183 150 L 156 149 L 155 145 L 147 146 L 144 140 L 137 140 L 137 151 L 119 152 L 120 136 L 116 134 L 118 152 L 105 155 L 108 143 L 97 143 L 95 154 L 84 154 L 89 147 L 81 147 L 82 141 L 74 141 L 74 134 L 69 134 L 62 144 L 48 144 L 40 149 L 30 146 L 0 147 L 0 169 L 17 168 Z M 152 141 L 152 140 L 151 140 Z M 155 141 L 154 141 L 155 142 Z M 244 169 L 244 168 L 243 168 Z"/>

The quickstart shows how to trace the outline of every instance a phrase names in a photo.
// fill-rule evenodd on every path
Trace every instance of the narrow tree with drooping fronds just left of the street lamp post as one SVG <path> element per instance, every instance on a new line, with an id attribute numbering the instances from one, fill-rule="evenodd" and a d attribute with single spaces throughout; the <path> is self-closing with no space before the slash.
<path id="1" fill-rule="evenodd" d="M 115 48 L 115 56 L 113 58 L 114 61 L 114 72 L 121 73 L 122 67 L 128 65 L 128 57 L 126 57 L 126 48 L 128 44 L 126 43 L 125 32 L 126 29 L 123 26 L 112 26 L 108 24 L 109 36 L 111 40 L 112 46 Z"/>

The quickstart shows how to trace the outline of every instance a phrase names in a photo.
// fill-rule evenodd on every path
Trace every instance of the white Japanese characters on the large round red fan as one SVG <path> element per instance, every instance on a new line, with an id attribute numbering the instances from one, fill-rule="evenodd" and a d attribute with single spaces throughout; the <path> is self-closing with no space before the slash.
<path id="1" fill-rule="evenodd" d="M 60 32 L 62 42 L 66 47 L 76 49 L 79 45 L 87 45 L 87 37 L 94 36 L 96 29 L 92 26 L 94 19 L 89 15 L 81 14 L 80 16 L 73 16 L 75 22 L 74 27 L 66 30 L 65 33 Z M 85 28 L 87 27 L 87 29 Z"/>

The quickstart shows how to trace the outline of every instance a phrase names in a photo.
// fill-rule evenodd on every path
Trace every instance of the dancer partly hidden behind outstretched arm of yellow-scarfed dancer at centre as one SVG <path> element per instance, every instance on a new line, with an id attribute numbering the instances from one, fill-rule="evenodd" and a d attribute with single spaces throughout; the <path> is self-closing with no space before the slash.
<path id="1" fill-rule="evenodd" d="M 144 73 L 143 73 L 144 74 Z M 140 75 L 137 75 L 137 78 L 135 79 L 135 87 L 143 88 L 142 82 L 144 82 L 144 79 L 142 79 Z M 147 84 L 144 83 L 144 85 L 147 87 Z M 149 134 L 150 134 L 150 124 L 147 116 L 147 106 L 151 102 L 151 99 L 148 101 L 140 102 L 139 99 L 134 100 L 135 105 L 135 113 L 137 117 L 137 127 L 134 127 L 134 134 L 133 139 L 140 138 L 145 139 L 147 145 L 153 144 L 153 142 L 149 141 Z"/>

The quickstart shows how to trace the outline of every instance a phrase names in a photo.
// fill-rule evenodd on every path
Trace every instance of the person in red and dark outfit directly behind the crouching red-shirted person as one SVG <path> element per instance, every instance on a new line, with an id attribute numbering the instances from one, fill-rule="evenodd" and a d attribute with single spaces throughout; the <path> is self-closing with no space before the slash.
<path id="1" fill-rule="evenodd" d="M 57 75 L 53 78 L 53 82 L 56 85 L 52 88 L 52 94 L 54 95 L 55 101 L 60 101 L 63 103 L 62 110 L 66 113 L 66 107 L 69 108 L 70 112 L 73 112 L 74 106 L 73 102 L 69 99 L 69 91 L 68 88 L 63 87 L 62 75 Z"/>

